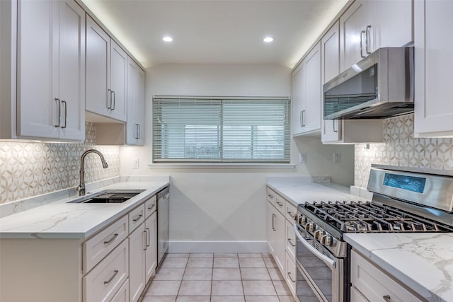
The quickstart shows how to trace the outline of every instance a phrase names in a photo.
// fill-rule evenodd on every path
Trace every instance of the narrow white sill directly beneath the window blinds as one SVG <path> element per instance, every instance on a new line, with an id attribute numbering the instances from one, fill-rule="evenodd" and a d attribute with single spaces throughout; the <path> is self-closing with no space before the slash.
<path id="1" fill-rule="evenodd" d="M 294 169 L 293 163 L 149 163 L 151 169 Z"/>

